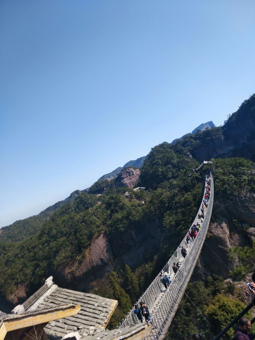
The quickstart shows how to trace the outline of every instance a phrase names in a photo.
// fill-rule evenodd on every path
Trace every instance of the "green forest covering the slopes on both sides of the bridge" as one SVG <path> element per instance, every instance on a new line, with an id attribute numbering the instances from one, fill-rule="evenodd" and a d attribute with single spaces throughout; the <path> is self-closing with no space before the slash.
<path id="1" fill-rule="evenodd" d="M 128 265 L 122 268 L 113 265 L 111 272 L 91 289 L 92 293 L 118 300 L 109 323 L 109 328 L 116 327 L 179 245 L 200 206 L 204 178 L 194 171 L 199 162 L 190 153 L 223 132 L 224 126 L 212 128 L 188 135 L 174 145 L 163 142 L 152 148 L 137 183 L 145 190 L 115 188 L 114 179 L 98 181 L 88 193 L 81 192 L 72 206 L 65 203 L 38 225 L 35 219 L 34 227 L 20 228 L 18 238 L 0 239 L 1 293 L 14 300 L 18 288 L 26 285 L 32 294 L 47 277 L 54 277 L 54 273 L 70 263 L 75 263 L 71 269 L 75 276 L 88 246 L 101 233 L 121 245 L 127 232 L 139 231 L 146 220 L 157 219 L 162 235 L 157 254 L 149 254 L 147 262 L 133 270 Z M 255 191 L 255 165 L 249 159 L 211 161 L 218 193 L 233 196 L 244 189 Z M 99 197 L 94 194 L 98 190 L 102 190 Z M 124 196 L 126 191 L 128 198 Z M 220 218 L 220 213 L 216 218 Z M 12 233 L 15 235 L 15 230 Z M 239 266 L 229 275 L 241 278 L 254 270 L 254 262 L 248 260 L 251 256 L 255 259 L 253 249 L 237 247 L 229 256 L 239 259 Z M 226 286 L 217 275 L 208 276 L 205 282 L 189 283 L 187 294 L 203 316 L 184 296 L 167 334 L 168 340 L 188 339 L 197 332 L 212 337 L 244 308 L 241 292 L 234 284 Z M 231 339 L 233 332 L 229 330 L 225 339 Z"/>

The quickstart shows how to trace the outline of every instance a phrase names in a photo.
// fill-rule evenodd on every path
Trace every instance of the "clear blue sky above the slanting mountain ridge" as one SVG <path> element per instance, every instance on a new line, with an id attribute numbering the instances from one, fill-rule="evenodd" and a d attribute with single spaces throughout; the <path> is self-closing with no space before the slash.
<path id="1" fill-rule="evenodd" d="M 255 92 L 255 1 L 1 0 L 0 227 Z"/>

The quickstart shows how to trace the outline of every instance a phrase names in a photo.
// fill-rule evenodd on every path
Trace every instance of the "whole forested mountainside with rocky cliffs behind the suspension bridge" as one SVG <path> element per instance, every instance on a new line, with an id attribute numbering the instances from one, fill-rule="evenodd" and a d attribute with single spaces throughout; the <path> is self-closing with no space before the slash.
<path id="1" fill-rule="evenodd" d="M 246 284 L 239 278 L 241 274 L 243 277 L 240 270 L 249 274 L 255 261 L 251 246 L 255 237 L 254 135 L 255 95 L 244 101 L 223 126 L 153 147 L 139 169 L 138 186 L 146 187 L 146 191 L 122 187 L 124 174 L 126 178 L 138 177 L 138 171 L 124 169 L 118 180 L 102 180 L 101 184 L 109 187 L 100 197 L 83 191 L 72 207 L 59 207 L 36 235 L 21 242 L 0 242 L 0 294 L 16 304 L 53 275 L 56 284 L 64 288 L 118 299 L 111 319 L 111 327 L 116 327 L 186 235 L 204 188 L 202 174 L 193 169 L 201 159 L 216 155 L 212 164 L 205 166 L 214 172 L 213 218 L 187 295 L 205 311 L 206 318 L 208 304 L 213 305 L 219 296 L 228 302 L 245 298 Z M 233 155 L 237 157 L 230 158 Z M 115 181 L 119 185 L 112 185 Z M 102 189 L 99 182 L 95 190 Z M 238 279 L 229 271 L 239 263 L 237 257 L 228 258 L 228 249 L 235 246 L 248 246 L 252 258 L 252 263 L 239 268 Z M 215 331 L 209 328 L 214 322 L 222 326 L 220 313 L 217 311 L 208 325 L 185 299 L 168 339 L 189 338 L 193 320 L 199 320 L 196 329 L 206 338 L 214 338 Z M 236 309 L 233 313 L 238 314 Z M 185 327 L 180 327 L 181 322 Z"/>

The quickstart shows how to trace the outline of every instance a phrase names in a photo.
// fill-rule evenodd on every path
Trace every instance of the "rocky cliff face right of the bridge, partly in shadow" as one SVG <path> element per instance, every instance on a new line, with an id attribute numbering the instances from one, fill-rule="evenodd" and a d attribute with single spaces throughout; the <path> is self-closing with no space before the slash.
<path id="1" fill-rule="evenodd" d="M 233 197 L 232 201 L 238 202 L 228 204 L 219 210 L 216 216 L 212 215 L 215 220 L 211 218 L 205 243 L 191 280 L 201 280 L 208 274 L 215 273 L 221 275 L 226 282 L 232 282 L 229 270 L 235 268 L 237 261 L 228 259 L 228 249 L 235 246 L 252 246 L 255 239 L 255 193 L 244 190 L 240 197 Z M 227 202 L 215 197 L 212 212 L 217 211 L 224 204 Z M 250 278 L 246 282 L 249 280 Z M 235 281 L 245 297 L 246 282 L 239 282 L 237 278 Z M 246 298 L 249 300 L 249 295 Z"/>

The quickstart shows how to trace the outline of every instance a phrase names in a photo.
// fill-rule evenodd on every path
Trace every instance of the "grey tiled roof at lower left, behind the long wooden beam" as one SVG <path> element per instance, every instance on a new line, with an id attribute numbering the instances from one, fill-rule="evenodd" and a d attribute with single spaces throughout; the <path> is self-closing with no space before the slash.
<path id="1" fill-rule="evenodd" d="M 38 309 L 55 308 L 66 304 L 80 305 L 81 310 L 74 316 L 50 321 L 45 326 L 45 332 L 52 337 L 62 338 L 73 331 L 79 331 L 80 336 L 94 335 L 104 330 L 118 302 L 94 294 L 45 284 L 23 303 L 22 306 L 27 308 L 22 314 L 32 311 L 38 313 Z"/>

